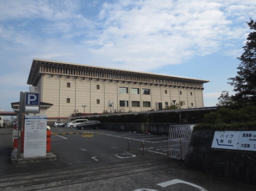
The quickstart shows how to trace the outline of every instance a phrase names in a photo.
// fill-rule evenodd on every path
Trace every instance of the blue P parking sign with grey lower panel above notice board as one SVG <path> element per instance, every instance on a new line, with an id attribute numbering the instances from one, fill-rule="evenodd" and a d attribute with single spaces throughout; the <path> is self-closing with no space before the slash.
<path id="1" fill-rule="evenodd" d="M 24 113 L 39 113 L 40 93 L 25 92 L 25 111 Z"/>

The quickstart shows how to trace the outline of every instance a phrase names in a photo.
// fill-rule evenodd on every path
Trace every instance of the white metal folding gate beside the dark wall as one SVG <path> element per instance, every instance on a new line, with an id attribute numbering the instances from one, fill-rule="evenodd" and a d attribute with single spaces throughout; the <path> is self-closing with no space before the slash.
<path id="1" fill-rule="evenodd" d="M 170 125 L 169 127 L 169 157 L 185 160 L 189 141 L 194 125 Z"/>

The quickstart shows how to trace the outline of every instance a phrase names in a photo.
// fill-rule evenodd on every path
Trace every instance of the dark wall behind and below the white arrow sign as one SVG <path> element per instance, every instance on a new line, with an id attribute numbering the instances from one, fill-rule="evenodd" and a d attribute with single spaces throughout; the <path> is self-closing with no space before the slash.
<path id="1" fill-rule="evenodd" d="M 214 130 L 192 133 L 185 167 L 256 185 L 256 152 L 211 148 Z"/>

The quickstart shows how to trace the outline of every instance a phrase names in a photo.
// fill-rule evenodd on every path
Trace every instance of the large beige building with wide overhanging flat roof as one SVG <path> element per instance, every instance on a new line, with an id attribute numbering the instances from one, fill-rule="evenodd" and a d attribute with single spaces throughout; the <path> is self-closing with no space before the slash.
<path id="1" fill-rule="evenodd" d="M 208 80 L 33 59 L 28 77 L 41 102 L 53 104 L 48 117 L 203 107 Z"/>

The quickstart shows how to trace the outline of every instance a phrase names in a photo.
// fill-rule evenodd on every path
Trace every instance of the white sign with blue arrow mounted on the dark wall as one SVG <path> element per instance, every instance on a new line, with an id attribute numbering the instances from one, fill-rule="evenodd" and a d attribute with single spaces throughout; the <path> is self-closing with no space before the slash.
<path id="1" fill-rule="evenodd" d="M 212 148 L 256 151 L 256 131 L 215 131 Z"/>

